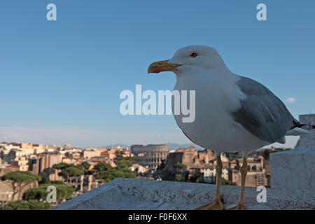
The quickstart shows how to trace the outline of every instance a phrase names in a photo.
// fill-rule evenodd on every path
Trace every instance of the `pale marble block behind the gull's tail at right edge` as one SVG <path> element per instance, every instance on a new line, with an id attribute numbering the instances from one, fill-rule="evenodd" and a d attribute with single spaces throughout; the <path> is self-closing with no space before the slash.
<path id="1" fill-rule="evenodd" d="M 300 116 L 300 122 L 315 125 L 315 114 Z M 270 178 L 272 188 L 315 193 L 315 130 L 302 135 L 293 150 L 270 154 Z"/>

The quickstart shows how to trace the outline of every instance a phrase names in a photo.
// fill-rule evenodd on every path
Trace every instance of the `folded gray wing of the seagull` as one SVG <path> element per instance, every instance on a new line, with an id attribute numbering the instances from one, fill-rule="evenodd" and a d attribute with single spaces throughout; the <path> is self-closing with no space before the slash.
<path id="1" fill-rule="evenodd" d="M 241 101 L 241 109 L 232 113 L 235 120 L 263 141 L 283 139 L 295 118 L 267 87 L 251 78 L 239 78 L 237 85 L 246 99 Z"/>

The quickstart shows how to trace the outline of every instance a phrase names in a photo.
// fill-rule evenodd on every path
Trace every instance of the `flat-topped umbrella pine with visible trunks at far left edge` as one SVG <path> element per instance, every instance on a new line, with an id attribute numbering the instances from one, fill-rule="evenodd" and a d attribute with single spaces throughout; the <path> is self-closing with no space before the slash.
<path id="1" fill-rule="evenodd" d="M 22 190 L 29 183 L 33 183 L 35 181 L 41 181 L 41 176 L 36 176 L 31 174 L 31 172 L 9 172 L 0 178 L 2 181 L 8 181 L 10 186 L 13 189 L 13 195 L 11 201 L 14 200 L 16 194 L 18 194 L 18 199 L 21 197 Z"/>

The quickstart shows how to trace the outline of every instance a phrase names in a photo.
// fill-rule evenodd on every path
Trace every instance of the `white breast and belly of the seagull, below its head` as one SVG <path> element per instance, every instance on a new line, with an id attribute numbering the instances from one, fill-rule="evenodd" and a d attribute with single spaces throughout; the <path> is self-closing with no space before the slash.
<path id="1" fill-rule="evenodd" d="M 231 116 L 244 99 L 236 85 L 237 76 L 216 77 L 200 74 L 177 78 L 174 90 L 195 90 L 196 98 L 195 121 L 183 123 L 179 115 L 174 116 L 176 123 L 195 144 L 216 152 L 248 152 L 265 146 Z"/>

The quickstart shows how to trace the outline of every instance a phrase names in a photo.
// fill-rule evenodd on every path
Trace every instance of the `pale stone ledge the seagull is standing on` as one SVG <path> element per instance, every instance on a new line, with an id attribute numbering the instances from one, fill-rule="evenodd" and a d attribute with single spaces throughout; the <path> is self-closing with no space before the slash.
<path id="1" fill-rule="evenodd" d="M 52 210 L 186 210 L 211 202 L 215 185 L 141 179 L 116 179 L 66 201 Z M 227 207 L 237 203 L 239 186 L 221 186 Z M 256 188 L 245 188 L 246 209 L 315 209 L 315 195 L 307 190 L 267 188 L 267 202 L 258 203 Z"/>

